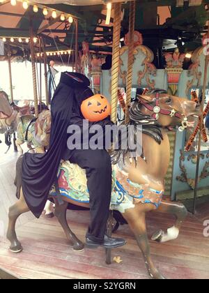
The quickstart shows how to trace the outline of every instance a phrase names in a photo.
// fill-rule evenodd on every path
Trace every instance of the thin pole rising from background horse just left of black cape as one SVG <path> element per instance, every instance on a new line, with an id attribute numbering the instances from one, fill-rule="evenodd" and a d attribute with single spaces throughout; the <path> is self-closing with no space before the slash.
<path id="1" fill-rule="evenodd" d="M 37 80 L 36 80 L 36 61 L 35 61 L 35 48 L 33 42 L 33 22 L 30 20 L 30 48 L 31 48 L 31 65 L 33 74 L 33 98 L 35 106 L 35 116 L 38 118 L 38 94 L 37 94 Z"/>

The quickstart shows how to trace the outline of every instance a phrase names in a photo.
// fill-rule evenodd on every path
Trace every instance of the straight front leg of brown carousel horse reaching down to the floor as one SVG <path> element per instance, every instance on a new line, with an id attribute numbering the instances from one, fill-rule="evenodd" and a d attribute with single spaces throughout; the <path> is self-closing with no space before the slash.
<path id="1" fill-rule="evenodd" d="M 150 243 L 146 232 L 146 212 L 153 210 L 152 204 L 137 204 L 134 209 L 127 209 L 123 217 L 130 225 L 132 232 L 143 254 L 148 274 L 153 279 L 164 279 L 164 276 L 157 270 L 150 255 Z"/>

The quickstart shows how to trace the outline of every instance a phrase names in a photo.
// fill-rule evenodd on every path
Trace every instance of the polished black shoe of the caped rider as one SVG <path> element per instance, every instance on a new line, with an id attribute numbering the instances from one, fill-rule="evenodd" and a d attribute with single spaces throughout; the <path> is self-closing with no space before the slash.
<path id="1" fill-rule="evenodd" d="M 86 246 L 88 248 L 97 248 L 98 246 L 104 247 L 104 248 L 118 248 L 121 246 L 124 246 L 126 244 L 124 239 L 120 238 L 111 238 L 107 235 L 104 235 L 104 242 L 98 243 L 96 241 L 92 241 L 88 237 L 86 238 Z"/>

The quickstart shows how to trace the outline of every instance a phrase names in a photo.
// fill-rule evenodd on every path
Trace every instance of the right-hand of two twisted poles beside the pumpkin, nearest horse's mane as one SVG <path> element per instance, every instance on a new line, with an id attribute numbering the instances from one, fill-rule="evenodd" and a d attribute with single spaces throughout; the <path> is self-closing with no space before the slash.
<path id="1" fill-rule="evenodd" d="M 132 98 L 135 10 L 136 10 L 136 3 L 135 1 L 131 1 L 130 2 L 130 16 L 129 16 L 129 44 L 128 44 L 128 59 L 127 59 L 125 123 L 129 122 L 129 107 L 130 107 L 131 98 Z"/>

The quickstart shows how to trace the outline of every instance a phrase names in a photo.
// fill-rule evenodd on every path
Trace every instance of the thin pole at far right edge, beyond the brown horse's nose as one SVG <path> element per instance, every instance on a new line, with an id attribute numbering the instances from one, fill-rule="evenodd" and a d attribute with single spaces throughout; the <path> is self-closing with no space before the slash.
<path id="1" fill-rule="evenodd" d="M 209 35 L 209 27 L 208 27 L 208 35 Z M 199 142 L 198 142 L 198 151 L 197 151 L 197 160 L 196 160 L 196 177 L 195 177 L 195 186 L 194 186 L 193 214 L 196 212 L 196 197 L 197 197 L 198 183 L 199 183 L 199 164 L 200 164 L 200 154 L 201 154 L 201 138 L 202 138 L 202 131 L 203 131 L 203 123 L 204 123 L 203 112 L 204 112 L 204 103 L 206 100 L 208 63 L 209 63 L 209 56 L 206 55 L 204 80 L 203 80 L 203 92 L 202 92 L 202 101 L 201 101 L 201 121 L 200 121 L 200 128 L 199 128 Z"/>

